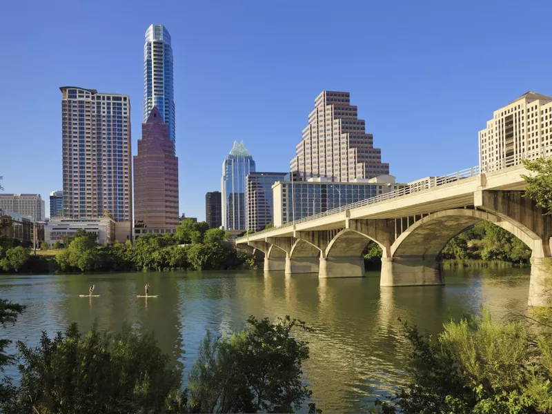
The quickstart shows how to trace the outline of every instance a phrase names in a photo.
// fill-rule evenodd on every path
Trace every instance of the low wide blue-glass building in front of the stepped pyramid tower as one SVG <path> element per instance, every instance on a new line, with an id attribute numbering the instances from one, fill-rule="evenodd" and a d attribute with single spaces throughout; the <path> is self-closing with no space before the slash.
<path id="1" fill-rule="evenodd" d="M 393 175 L 353 183 L 334 182 L 324 177 L 308 181 L 278 181 L 273 185 L 274 225 L 281 226 L 288 221 L 323 213 L 404 186 L 406 184 L 397 184 Z"/>

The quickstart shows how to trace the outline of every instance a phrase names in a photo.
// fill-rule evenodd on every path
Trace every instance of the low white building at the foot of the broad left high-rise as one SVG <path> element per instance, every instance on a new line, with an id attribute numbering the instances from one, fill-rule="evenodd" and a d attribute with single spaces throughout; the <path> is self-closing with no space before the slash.
<path id="1" fill-rule="evenodd" d="M 55 242 L 63 244 L 66 236 L 72 236 L 78 230 L 84 230 L 86 233 L 96 235 L 98 244 L 112 244 L 117 235 L 117 223 L 111 217 L 82 218 L 82 219 L 51 219 L 44 226 L 44 241 L 50 246 Z"/>

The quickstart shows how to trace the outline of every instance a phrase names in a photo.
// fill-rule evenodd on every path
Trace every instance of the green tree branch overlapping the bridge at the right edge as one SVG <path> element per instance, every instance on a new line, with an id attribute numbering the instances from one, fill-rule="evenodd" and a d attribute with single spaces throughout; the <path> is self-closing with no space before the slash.
<path id="1" fill-rule="evenodd" d="M 552 214 L 552 158 L 538 158 L 535 161 L 523 160 L 525 168 L 534 175 L 522 175 L 526 181 L 525 197 L 536 201 L 544 208 L 545 214 Z"/>

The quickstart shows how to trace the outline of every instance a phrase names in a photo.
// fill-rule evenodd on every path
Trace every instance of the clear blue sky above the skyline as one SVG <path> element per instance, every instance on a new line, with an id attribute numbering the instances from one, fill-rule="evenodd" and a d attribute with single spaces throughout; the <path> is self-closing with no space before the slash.
<path id="1" fill-rule="evenodd" d="M 397 181 L 475 166 L 493 110 L 527 90 L 552 95 L 551 14 L 552 1 L 9 1 L 3 185 L 46 199 L 61 189 L 59 86 L 130 95 L 136 154 L 150 23 L 172 37 L 188 217 L 204 219 L 234 140 L 257 170 L 288 170 L 322 90 L 351 92 Z"/>

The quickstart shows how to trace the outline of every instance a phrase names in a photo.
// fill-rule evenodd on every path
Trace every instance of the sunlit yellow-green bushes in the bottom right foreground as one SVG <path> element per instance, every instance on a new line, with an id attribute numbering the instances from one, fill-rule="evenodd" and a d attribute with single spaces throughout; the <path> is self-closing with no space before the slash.
<path id="1" fill-rule="evenodd" d="M 550 313 L 547 308 L 541 315 Z M 552 335 L 546 324 L 500 324 L 484 313 L 446 324 L 437 339 L 408 324 L 404 331 L 412 375 L 397 395 L 404 413 L 552 411 Z"/>

